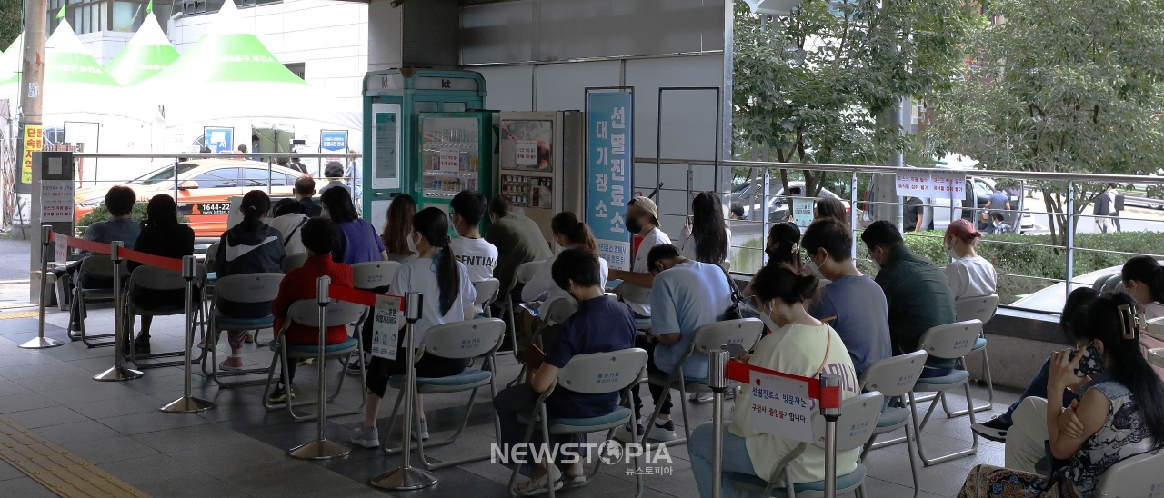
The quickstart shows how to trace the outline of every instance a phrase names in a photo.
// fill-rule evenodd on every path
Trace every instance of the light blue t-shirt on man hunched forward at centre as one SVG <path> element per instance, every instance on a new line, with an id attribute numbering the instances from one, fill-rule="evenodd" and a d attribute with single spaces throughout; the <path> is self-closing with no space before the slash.
<path id="1" fill-rule="evenodd" d="M 673 346 L 655 346 L 655 367 L 675 371 L 695 329 L 722 321 L 731 304 L 731 287 L 719 265 L 687 261 L 656 275 L 651 286 L 651 334 L 677 333 L 680 340 Z M 707 378 L 708 355 L 691 354 L 683 362 L 683 377 Z"/>

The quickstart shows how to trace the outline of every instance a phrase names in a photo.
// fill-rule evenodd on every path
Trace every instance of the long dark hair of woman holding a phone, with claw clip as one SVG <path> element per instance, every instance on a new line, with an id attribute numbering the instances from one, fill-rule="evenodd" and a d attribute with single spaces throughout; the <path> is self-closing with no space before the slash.
<path id="1" fill-rule="evenodd" d="M 1079 335 L 1080 342 L 1103 342 L 1103 354 L 1110 360 L 1105 362 L 1105 372 L 1131 391 L 1148 432 L 1157 444 L 1164 441 L 1164 382 L 1140 348 L 1136 300 L 1127 292 L 1095 299 Z"/>

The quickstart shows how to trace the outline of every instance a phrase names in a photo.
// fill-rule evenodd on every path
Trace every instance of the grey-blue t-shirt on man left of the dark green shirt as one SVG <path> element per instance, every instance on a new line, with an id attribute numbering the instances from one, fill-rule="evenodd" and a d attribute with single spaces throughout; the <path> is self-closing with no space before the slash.
<path id="1" fill-rule="evenodd" d="M 889 310 L 881 286 L 866 276 L 845 276 L 824 286 L 809 314 L 830 321 L 849 349 L 857 374 L 893 356 L 889 341 Z"/>

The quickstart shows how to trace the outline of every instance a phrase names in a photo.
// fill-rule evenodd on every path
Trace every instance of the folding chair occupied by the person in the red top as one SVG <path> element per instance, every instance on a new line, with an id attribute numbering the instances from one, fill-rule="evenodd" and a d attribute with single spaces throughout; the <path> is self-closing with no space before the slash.
<path id="1" fill-rule="evenodd" d="M 327 305 L 327 323 L 326 323 L 326 326 L 327 327 L 335 327 L 335 326 L 340 326 L 340 325 L 347 326 L 347 325 L 349 325 L 352 322 L 357 322 L 356 330 L 359 330 L 360 329 L 360 322 L 362 322 L 367 318 L 367 311 L 368 311 L 367 306 L 362 306 L 362 305 L 357 305 L 357 304 L 354 304 L 354 303 L 347 303 L 347 301 L 341 301 L 341 300 L 333 299 Z M 301 421 L 306 421 L 306 420 L 315 420 L 319 417 L 318 414 L 314 414 L 314 415 L 299 415 L 299 414 L 297 414 L 294 412 L 294 407 L 306 406 L 306 405 L 315 405 L 317 401 L 315 401 L 314 397 L 312 397 L 311 400 L 303 400 L 303 401 L 294 403 L 294 401 L 291 401 L 291 397 L 288 396 L 286 403 L 281 403 L 281 404 L 271 404 L 267 399 L 270 396 L 270 393 L 271 393 L 271 384 L 272 384 L 272 382 L 275 379 L 275 363 L 276 362 L 278 362 L 278 364 L 281 367 L 281 372 L 283 375 L 283 378 L 286 379 L 286 378 L 290 377 L 290 375 L 288 375 L 289 374 L 288 372 L 288 362 L 289 361 L 301 360 L 301 358 L 317 358 L 317 357 L 319 357 L 319 343 L 318 343 L 318 341 L 315 343 L 312 343 L 312 344 L 288 344 L 286 343 L 286 335 L 284 334 L 284 332 L 286 332 L 288 327 L 290 327 L 292 322 L 299 323 L 299 325 L 305 325 L 307 327 L 312 327 L 314 329 L 318 329 L 319 328 L 319 303 L 315 301 L 315 299 L 300 299 L 298 301 L 292 303 L 291 304 L 291 308 L 288 310 L 286 320 L 283 321 L 283 329 L 279 330 L 279 333 L 275 336 L 274 340 L 271 340 L 271 342 L 270 342 L 269 346 L 270 346 L 271 350 L 275 351 L 275 357 L 271 358 L 271 367 L 269 369 L 270 374 L 267 375 L 267 386 L 263 387 L 263 407 L 267 408 L 267 410 L 277 410 L 279 407 L 284 407 L 284 408 L 286 408 L 288 414 L 291 415 L 292 420 L 294 420 L 297 422 L 301 422 Z M 338 398 L 340 396 L 340 391 L 343 389 L 343 378 L 347 377 L 343 372 L 348 368 L 348 362 L 352 360 L 352 355 L 353 354 L 359 354 L 360 351 L 363 351 L 362 334 L 355 334 L 354 337 L 348 337 L 346 341 L 343 341 L 343 342 L 341 342 L 339 344 L 328 344 L 327 346 L 325 360 L 326 358 L 339 358 L 341 356 L 343 357 L 343 360 L 341 360 L 343 362 L 343 369 L 340 370 L 340 375 L 339 375 L 340 382 L 335 385 L 335 392 L 333 392 L 332 396 L 327 397 L 328 401 L 334 401 L 335 398 Z M 324 363 L 325 364 L 317 364 L 315 368 L 320 368 L 320 369 L 327 368 L 326 361 Z M 363 405 L 364 405 L 364 403 L 368 401 L 368 393 L 363 389 L 364 380 L 365 380 L 364 372 L 361 371 L 360 372 L 360 393 L 361 393 L 361 398 L 360 398 L 360 406 L 359 407 L 356 407 L 355 410 L 352 410 L 352 411 L 347 411 L 347 412 L 333 412 L 333 411 L 328 410 L 327 411 L 327 417 L 354 415 L 356 413 L 363 413 Z M 291 386 L 288 385 L 288 389 L 290 389 L 290 387 Z M 320 389 L 322 389 L 322 387 L 324 386 L 320 386 Z"/>

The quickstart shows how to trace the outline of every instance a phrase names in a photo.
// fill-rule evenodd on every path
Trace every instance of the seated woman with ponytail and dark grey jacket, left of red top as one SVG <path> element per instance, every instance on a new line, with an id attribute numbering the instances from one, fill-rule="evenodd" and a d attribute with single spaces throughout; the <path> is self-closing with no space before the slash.
<path id="1" fill-rule="evenodd" d="M 271 211 L 271 199 L 267 197 L 267 192 L 247 192 L 239 211 L 242 212 L 242 221 L 222 233 L 219 240 L 215 269 L 218 278 L 246 273 L 282 273 L 286 252 L 283 249 L 283 234 L 264 222 Z M 271 307 L 269 303 L 243 305 L 219 300 L 218 310 L 232 318 L 262 318 L 270 313 Z M 246 330 L 229 330 L 227 341 L 230 343 L 230 356 L 219 367 L 223 370 L 239 370 L 242 368 L 242 357 L 239 356 L 242 343 L 254 342 L 254 337 Z M 218 337 L 214 337 L 213 343 L 218 343 Z"/>

